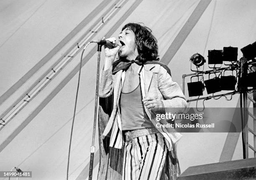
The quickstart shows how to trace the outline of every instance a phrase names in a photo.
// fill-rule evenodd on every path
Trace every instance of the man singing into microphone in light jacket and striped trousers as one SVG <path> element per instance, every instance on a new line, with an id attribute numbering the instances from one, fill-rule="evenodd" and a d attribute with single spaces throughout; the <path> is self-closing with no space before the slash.
<path id="1" fill-rule="evenodd" d="M 157 40 L 149 28 L 128 23 L 118 35 L 118 47 L 105 45 L 99 96 L 110 95 L 113 111 L 103 136 L 111 131 L 110 147 L 124 148 L 123 180 L 159 180 L 166 153 L 172 154 L 181 135 L 173 128 L 156 128 L 166 122 L 155 115 L 182 112 L 187 103 L 169 68 L 159 62 Z"/>

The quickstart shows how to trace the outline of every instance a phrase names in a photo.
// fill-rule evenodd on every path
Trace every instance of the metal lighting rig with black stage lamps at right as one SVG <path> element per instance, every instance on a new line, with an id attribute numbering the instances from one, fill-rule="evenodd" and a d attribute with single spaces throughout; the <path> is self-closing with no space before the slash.
<path id="1" fill-rule="evenodd" d="M 225 49 L 226 48 L 226 49 Z M 230 50 L 233 51 L 228 51 Z M 234 52 L 234 50 L 236 52 Z M 206 70 L 204 71 L 204 62 L 205 59 L 202 55 L 200 54 L 194 54 L 190 58 L 191 61 L 191 70 L 192 70 L 192 63 L 196 66 L 197 70 L 192 70 L 194 73 L 191 74 L 184 74 L 182 75 L 182 90 L 183 93 L 185 91 L 185 77 L 191 77 L 191 82 L 187 83 L 188 85 L 188 91 L 189 91 L 189 97 L 191 96 L 198 96 L 198 98 L 195 99 L 190 99 L 187 100 L 187 102 L 191 101 L 197 101 L 197 100 L 209 100 L 212 98 L 216 97 L 222 97 L 225 96 L 227 99 L 226 95 L 235 95 L 235 94 L 240 94 L 240 107 L 241 107 L 241 127 L 242 127 L 242 141 L 243 141 L 243 158 L 246 159 L 248 158 L 248 148 L 251 148 L 254 151 L 254 157 L 256 157 L 256 110 L 255 108 L 253 109 L 253 114 L 248 112 L 247 108 L 247 100 L 251 100 L 253 102 L 253 107 L 256 107 L 256 42 L 253 44 L 247 45 L 246 47 L 243 47 L 241 49 L 243 52 L 243 57 L 237 61 L 237 47 L 224 47 L 223 51 L 222 50 L 209 50 L 208 51 L 208 59 L 209 59 L 209 64 L 222 64 L 223 61 L 230 61 L 231 64 L 224 64 L 225 67 L 209 67 L 211 70 Z M 218 53 L 216 53 L 218 52 Z M 225 53 L 226 52 L 226 53 Z M 213 55 L 210 55 L 210 53 L 214 53 Z M 212 59 L 213 57 L 213 59 Z M 210 59 L 211 58 L 211 59 Z M 216 63 L 212 63 L 214 61 Z M 228 59 L 228 60 L 227 60 Z M 211 63 L 210 63 L 211 61 Z M 199 70 L 199 67 L 202 66 L 202 70 Z M 209 65 L 208 65 L 209 66 Z M 220 78 L 220 75 L 222 75 L 222 72 L 225 72 L 227 70 L 233 72 L 236 71 L 236 77 L 230 76 L 228 77 L 228 82 L 229 86 L 233 87 L 228 87 L 227 89 L 223 89 L 223 86 L 225 85 L 221 83 L 222 80 L 225 78 Z M 219 73 L 217 76 L 216 74 Z M 204 75 L 209 75 L 209 80 L 204 80 Z M 215 78 L 210 79 L 210 74 L 215 74 Z M 197 82 L 192 82 L 192 78 L 197 77 Z M 225 77 L 224 75 L 222 77 Z M 200 79 L 200 80 L 199 80 Z M 230 80 L 233 80 L 230 81 Z M 226 78 L 227 80 L 227 78 Z M 207 82 L 207 83 L 206 83 Z M 211 83 L 214 83 L 214 85 L 211 85 Z M 235 88 L 236 85 L 236 88 Z M 204 91 L 204 88 L 206 87 L 207 93 L 212 95 L 206 96 L 206 97 L 200 97 L 202 92 Z M 249 88 L 250 87 L 250 88 Z M 221 90 L 233 90 L 228 93 L 223 93 L 223 94 L 218 94 L 218 95 L 213 95 L 215 92 L 220 92 Z M 253 92 L 253 98 L 247 97 L 247 93 Z M 228 99 L 227 99 L 228 100 Z M 253 117 L 254 121 L 254 127 L 253 130 L 248 128 L 247 126 L 247 118 L 248 115 Z M 254 148 L 253 146 L 248 144 L 248 131 L 253 133 L 254 136 Z"/>

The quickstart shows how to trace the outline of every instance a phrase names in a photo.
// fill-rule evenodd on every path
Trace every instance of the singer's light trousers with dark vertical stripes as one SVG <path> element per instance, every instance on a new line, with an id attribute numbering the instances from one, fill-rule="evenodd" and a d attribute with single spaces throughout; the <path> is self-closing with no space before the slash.
<path id="1" fill-rule="evenodd" d="M 160 133 L 125 141 L 123 180 L 159 180 L 167 147 Z"/>

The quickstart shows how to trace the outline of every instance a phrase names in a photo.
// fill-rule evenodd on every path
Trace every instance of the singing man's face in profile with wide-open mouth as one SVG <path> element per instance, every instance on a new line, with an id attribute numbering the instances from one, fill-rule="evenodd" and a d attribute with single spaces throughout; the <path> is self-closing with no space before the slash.
<path id="1" fill-rule="evenodd" d="M 119 35 L 119 41 L 122 44 L 120 47 L 119 55 L 121 57 L 128 57 L 134 60 L 138 55 L 138 50 L 135 44 L 135 34 L 132 30 L 125 28 Z"/>

